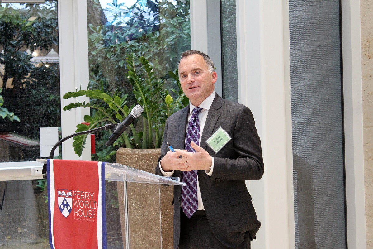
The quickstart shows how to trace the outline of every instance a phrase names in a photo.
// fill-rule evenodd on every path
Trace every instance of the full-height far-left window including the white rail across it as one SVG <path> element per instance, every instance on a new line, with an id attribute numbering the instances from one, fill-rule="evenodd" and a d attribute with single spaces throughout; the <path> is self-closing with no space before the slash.
<path id="1" fill-rule="evenodd" d="M 39 128 L 58 137 L 59 78 L 57 1 L 1 4 L 0 245 L 8 248 L 48 246 L 46 181 L 22 179 L 41 178 Z"/>

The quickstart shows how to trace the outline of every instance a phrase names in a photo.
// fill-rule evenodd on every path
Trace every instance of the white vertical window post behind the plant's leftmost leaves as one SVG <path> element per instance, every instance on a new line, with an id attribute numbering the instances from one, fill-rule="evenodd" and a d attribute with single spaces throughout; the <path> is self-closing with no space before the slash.
<path id="1" fill-rule="evenodd" d="M 87 89 L 88 72 L 88 28 L 87 28 L 87 2 L 77 0 L 63 0 L 58 3 L 58 30 L 59 30 L 59 57 L 60 57 L 60 94 L 76 89 Z M 89 101 L 86 97 L 64 100 L 63 106 L 78 101 Z M 62 137 L 66 137 L 76 130 L 76 125 L 84 122 L 83 116 L 89 115 L 88 108 L 76 108 L 71 111 L 61 111 Z M 90 136 L 88 136 L 85 149 L 79 158 L 72 147 L 70 138 L 62 144 L 62 158 L 70 160 L 91 161 Z"/>

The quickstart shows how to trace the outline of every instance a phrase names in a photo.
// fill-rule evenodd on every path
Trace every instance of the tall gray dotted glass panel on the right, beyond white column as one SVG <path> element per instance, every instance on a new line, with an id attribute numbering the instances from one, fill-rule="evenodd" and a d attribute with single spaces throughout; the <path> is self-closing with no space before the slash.
<path id="1" fill-rule="evenodd" d="M 295 246 L 346 248 L 338 0 L 290 0 Z"/>

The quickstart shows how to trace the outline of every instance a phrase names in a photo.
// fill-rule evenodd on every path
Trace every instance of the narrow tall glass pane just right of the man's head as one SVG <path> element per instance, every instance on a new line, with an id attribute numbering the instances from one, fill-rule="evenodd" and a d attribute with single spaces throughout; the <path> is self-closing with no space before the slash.
<path id="1" fill-rule="evenodd" d="M 236 0 L 221 0 L 223 97 L 238 102 Z"/>

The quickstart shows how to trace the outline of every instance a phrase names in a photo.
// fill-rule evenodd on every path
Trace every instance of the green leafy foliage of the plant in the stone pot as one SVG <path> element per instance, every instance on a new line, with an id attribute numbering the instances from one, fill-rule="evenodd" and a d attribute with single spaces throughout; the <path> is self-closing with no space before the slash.
<path id="1" fill-rule="evenodd" d="M 142 125 L 141 122 L 140 124 L 138 122 L 136 126 L 131 124 L 129 133 L 123 133 L 115 145 L 127 148 L 160 148 L 167 117 L 188 104 L 188 99 L 181 90 L 177 72 L 176 74 L 169 72 L 169 77 L 175 80 L 179 88 L 178 90 L 170 88 L 175 96 L 172 97 L 164 86 L 165 80 L 154 75 L 153 67 L 144 57 L 134 54 L 127 55 L 125 63 L 128 69 L 126 77 L 133 87 L 137 103 L 144 107 L 144 112 L 141 115 Z M 63 96 L 64 99 L 79 96 L 87 96 L 91 99 L 91 102 L 71 103 L 63 108 L 70 110 L 89 107 L 93 110 L 91 115 L 84 116 L 84 121 L 90 124 L 78 124 L 76 132 L 93 129 L 103 123 L 121 122 L 134 107 L 135 104 L 127 106 L 128 94 L 120 94 L 117 91 L 114 93 L 104 92 L 104 82 L 101 81 L 101 83 L 101 90 L 79 90 L 66 93 Z M 86 138 L 87 135 L 74 137 L 74 151 L 79 156 L 84 149 Z"/>

